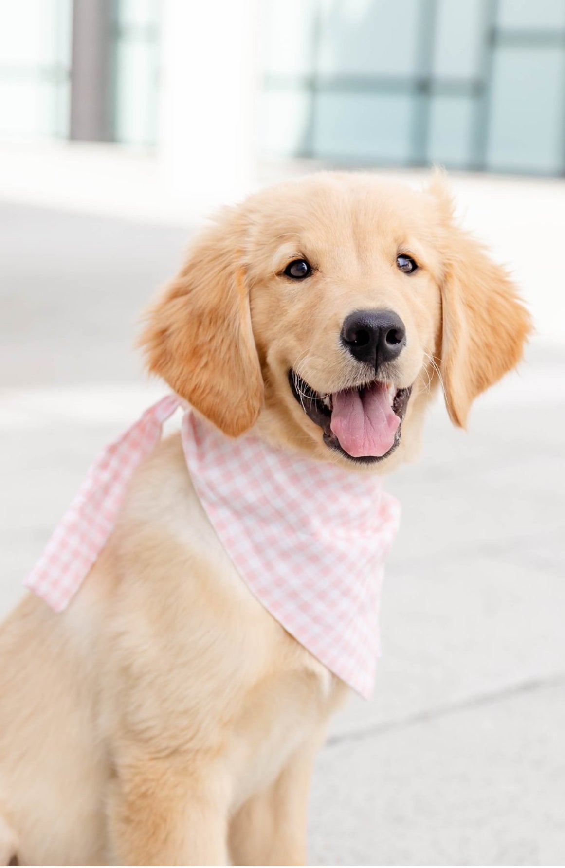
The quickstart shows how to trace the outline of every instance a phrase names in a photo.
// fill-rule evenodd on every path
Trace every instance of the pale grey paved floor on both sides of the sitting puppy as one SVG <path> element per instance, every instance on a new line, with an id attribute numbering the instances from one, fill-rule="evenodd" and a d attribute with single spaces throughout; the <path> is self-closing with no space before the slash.
<path id="1" fill-rule="evenodd" d="M 0 615 L 95 451 L 148 403 L 135 319 L 182 230 L 0 208 Z M 403 503 L 384 657 L 319 758 L 311 861 L 565 862 L 565 351 L 441 404 Z"/>

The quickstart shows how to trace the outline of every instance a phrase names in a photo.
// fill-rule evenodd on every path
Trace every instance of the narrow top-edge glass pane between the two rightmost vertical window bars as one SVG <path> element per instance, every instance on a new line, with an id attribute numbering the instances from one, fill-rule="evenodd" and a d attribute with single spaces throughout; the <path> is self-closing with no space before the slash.
<path id="1" fill-rule="evenodd" d="M 473 78 L 480 75 L 485 38 L 483 0 L 439 0 L 433 75 Z"/>

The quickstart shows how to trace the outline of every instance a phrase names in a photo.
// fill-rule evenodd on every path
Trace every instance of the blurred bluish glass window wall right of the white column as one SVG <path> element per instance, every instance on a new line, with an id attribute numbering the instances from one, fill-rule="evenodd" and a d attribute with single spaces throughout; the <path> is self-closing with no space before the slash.
<path id="1" fill-rule="evenodd" d="M 266 153 L 565 172 L 562 0 L 268 6 Z"/>

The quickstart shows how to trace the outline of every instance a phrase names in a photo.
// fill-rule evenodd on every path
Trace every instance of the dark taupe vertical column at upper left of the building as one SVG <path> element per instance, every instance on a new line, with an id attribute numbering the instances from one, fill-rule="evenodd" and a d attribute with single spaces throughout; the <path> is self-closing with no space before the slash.
<path id="1" fill-rule="evenodd" d="M 112 139 L 112 0 L 74 0 L 70 138 Z"/>

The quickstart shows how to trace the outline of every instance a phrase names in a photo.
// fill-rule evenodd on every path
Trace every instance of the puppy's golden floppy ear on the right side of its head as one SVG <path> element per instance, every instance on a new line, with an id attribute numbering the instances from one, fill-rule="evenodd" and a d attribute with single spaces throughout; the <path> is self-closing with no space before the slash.
<path id="1" fill-rule="evenodd" d="M 464 428 L 477 395 L 522 358 L 532 323 L 503 267 L 455 224 L 440 174 L 429 192 L 437 201 L 443 260 L 440 370 L 450 419 Z"/>

